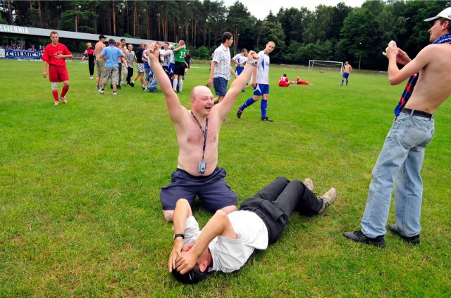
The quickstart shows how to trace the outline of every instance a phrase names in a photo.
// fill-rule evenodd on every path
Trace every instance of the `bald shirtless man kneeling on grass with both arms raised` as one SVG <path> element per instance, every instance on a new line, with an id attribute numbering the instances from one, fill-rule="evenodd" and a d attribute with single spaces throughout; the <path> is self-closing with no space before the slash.
<path id="1" fill-rule="evenodd" d="M 173 221 L 178 199 L 187 199 L 192 206 L 196 196 L 209 211 L 236 211 L 237 195 L 224 179 L 226 170 L 218 168 L 219 130 L 235 104 L 236 97 L 249 80 L 255 67 L 252 61 L 257 55 L 254 51 L 249 52 L 248 66 L 233 81 L 220 104 L 214 106 L 213 94 L 208 87 L 197 86 L 190 93 L 191 110 L 187 110 L 180 104 L 168 75 L 159 63 L 159 46 L 151 44 L 147 54 L 166 98 L 179 147 L 177 170 L 172 174 L 171 183 L 161 188 L 164 218 Z"/>

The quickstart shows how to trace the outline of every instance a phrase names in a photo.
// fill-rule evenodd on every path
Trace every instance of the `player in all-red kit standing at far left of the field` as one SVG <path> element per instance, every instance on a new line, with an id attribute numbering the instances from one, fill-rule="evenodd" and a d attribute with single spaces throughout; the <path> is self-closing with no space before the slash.
<path id="1" fill-rule="evenodd" d="M 51 82 L 51 93 L 54 95 L 55 106 L 58 106 L 59 99 L 67 104 L 66 93 L 69 90 L 69 74 L 66 68 L 66 58 L 73 58 L 72 52 L 64 44 L 58 43 L 58 32 L 50 32 L 51 44 L 47 45 L 42 54 L 44 68 L 42 75 L 47 77 L 47 64 L 49 65 L 49 81 Z M 63 82 L 63 90 L 58 98 L 58 82 Z"/>

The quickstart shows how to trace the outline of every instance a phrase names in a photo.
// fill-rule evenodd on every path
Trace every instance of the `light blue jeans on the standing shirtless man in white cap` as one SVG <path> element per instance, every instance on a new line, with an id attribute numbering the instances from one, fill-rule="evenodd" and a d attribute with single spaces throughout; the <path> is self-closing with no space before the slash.
<path id="1" fill-rule="evenodd" d="M 421 232 L 424 149 L 431 142 L 434 120 L 400 113 L 383 144 L 373 168 L 368 200 L 362 218 L 362 232 L 371 238 L 385 235 L 395 181 L 397 230 L 412 237 Z"/>

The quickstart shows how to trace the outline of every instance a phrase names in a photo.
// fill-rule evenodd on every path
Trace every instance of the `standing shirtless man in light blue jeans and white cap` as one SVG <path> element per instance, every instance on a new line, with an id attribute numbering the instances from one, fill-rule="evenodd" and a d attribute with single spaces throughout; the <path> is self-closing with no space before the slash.
<path id="1" fill-rule="evenodd" d="M 428 30 L 433 44 L 424 47 L 413 60 L 395 42 L 390 42 L 383 53 L 388 58 L 390 85 L 410 77 L 409 88 L 395 109 L 396 118 L 373 169 L 362 230 L 343 234 L 355 242 L 385 245 L 383 237 L 395 182 L 396 224 L 389 224 L 388 230 L 408 243 L 420 242 L 424 150 L 433 137 L 433 113 L 451 94 L 451 7 L 426 21 L 433 21 Z M 397 63 L 404 67 L 399 69 Z"/>

